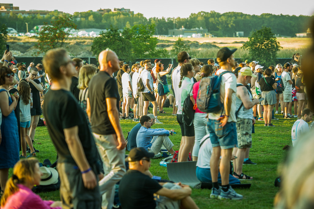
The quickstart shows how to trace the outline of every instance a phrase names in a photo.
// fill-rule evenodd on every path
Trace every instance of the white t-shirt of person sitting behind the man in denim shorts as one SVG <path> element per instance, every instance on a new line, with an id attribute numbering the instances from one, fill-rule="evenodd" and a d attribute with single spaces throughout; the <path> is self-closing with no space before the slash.
<path id="1" fill-rule="evenodd" d="M 202 143 L 203 141 L 204 143 L 202 144 L 198 151 L 198 159 L 196 166 L 198 168 L 210 168 L 210 157 L 212 156 L 213 146 L 212 142 L 210 141 L 209 134 L 205 135 L 201 139 L 200 143 Z"/>

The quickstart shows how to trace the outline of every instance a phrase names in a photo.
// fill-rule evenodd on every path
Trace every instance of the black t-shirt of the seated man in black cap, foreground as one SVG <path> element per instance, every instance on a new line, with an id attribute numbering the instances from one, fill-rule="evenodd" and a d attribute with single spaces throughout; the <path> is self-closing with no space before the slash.
<path id="1" fill-rule="evenodd" d="M 154 193 L 162 186 L 149 176 L 137 171 L 128 170 L 119 185 L 119 198 L 123 209 L 154 209 Z"/>

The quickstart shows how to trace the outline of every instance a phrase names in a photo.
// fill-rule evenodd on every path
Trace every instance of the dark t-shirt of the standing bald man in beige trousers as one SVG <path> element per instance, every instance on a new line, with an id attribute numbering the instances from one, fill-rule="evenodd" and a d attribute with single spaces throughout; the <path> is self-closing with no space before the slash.
<path id="1" fill-rule="evenodd" d="M 116 106 L 119 108 L 120 96 L 116 80 L 107 72 L 99 71 L 89 82 L 88 98 L 92 131 L 100 135 L 115 134 L 108 117 L 106 98 L 116 98 Z"/>

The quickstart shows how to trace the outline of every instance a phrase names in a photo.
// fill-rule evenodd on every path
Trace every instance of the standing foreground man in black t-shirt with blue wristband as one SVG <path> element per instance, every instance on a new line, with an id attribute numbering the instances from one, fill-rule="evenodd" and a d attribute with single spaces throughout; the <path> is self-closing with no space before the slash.
<path id="1" fill-rule="evenodd" d="M 62 208 L 99 209 L 97 149 L 84 111 L 70 92 L 71 77 L 76 73 L 73 61 L 64 49 L 52 49 L 43 64 L 53 79 L 45 96 L 44 116 L 58 152 Z"/>

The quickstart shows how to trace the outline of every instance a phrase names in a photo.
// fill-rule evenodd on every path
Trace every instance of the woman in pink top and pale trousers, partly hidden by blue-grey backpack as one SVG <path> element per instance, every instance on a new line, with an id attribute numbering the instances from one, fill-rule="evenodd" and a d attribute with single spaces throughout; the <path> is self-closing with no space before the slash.
<path id="1" fill-rule="evenodd" d="M 204 65 L 201 70 L 201 80 L 204 77 L 211 76 L 215 72 L 215 67 L 213 65 Z M 208 129 L 207 129 L 207 118 L 206 115 L 207 113 L 203 113 L 199 111 L 197 108 L 197 103 L 196 103 L 196 97 L 199 89 L 199 83 L 201 82 L 198 81 L 193 85 L 193 97 L 195 100 L 195 113 L 194 113 L 194 132 L 195 132 L 195 141 L 194 141 L 194 146 L 193 146 L 193 151 L 192 151 L 192 158 L 193 161 L 197 161 L 198 158 L 198 151 L 199 151 L 199 144 L 203 136 L 206 134 L 209 134 Z"/>

